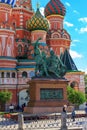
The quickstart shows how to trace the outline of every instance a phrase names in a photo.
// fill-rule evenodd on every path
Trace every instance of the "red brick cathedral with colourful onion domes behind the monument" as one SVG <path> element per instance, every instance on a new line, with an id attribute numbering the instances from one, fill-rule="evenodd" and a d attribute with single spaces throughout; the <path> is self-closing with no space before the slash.
<path id="1" fill-rule="evenodd" d="M 51 48 L 56 55 L 63 54 L 69 85 L 85 91 L 84 72 L 77 69 L 69 53 L 71 37 L 63 27 L 66 9 L 61 0 L 49 0 L 45 17 L 39 6 L 34 12 L 31 3 L 31 0 L 0 0 L 0 90 L 11 91 L 10 103 L 19 106 L 29 101 L 27 82 L 35 74 L 32 44 L 38 38 L 41 50 L 48 52 Z"/>

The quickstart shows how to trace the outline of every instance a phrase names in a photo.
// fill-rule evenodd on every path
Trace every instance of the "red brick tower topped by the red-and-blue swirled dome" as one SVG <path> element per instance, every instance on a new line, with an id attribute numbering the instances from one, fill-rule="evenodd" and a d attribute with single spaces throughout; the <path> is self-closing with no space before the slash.
<path id="1" fill-rule="evenodd" d="M 50 0 L 45 7 L 45 16 L 50 22 L 47 44 L 53 48 L 57 55 L 70 48 L 70 35 L 63 28 L 65 13 L 66 9 L 60 0 Z"/>

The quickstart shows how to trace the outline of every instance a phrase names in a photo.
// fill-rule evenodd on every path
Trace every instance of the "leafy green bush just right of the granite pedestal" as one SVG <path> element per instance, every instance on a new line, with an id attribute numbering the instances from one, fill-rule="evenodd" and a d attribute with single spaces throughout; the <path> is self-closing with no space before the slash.
<path id="1" fill-rule="evenodd" d="M 67 87 L 67 97 L 69 102 L 71 102 L 74 105 L 80 105 L 86 101 L 86 97 L 84 93 L 80 91 L 76 91 L 70 86 Z"/>

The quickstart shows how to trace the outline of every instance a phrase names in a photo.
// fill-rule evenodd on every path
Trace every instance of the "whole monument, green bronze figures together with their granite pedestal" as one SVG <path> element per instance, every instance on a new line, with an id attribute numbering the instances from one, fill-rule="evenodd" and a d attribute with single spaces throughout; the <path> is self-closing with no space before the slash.
<path id="1" fill-rule="evenodd" d="M 25 112 L 59 112 L 67 104 L 68 81 L 64 78 L 66 66 L 52 49 L 49 49 L 48 55 L 41 51 L 39 40 L 33 44 L 35 76 L 28 82 L 30 101 Z"/>

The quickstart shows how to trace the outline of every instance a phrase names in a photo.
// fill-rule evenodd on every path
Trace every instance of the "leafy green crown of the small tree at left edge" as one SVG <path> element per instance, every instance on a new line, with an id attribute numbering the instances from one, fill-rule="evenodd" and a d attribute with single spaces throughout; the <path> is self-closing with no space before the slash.
<path id="1" fill-rule="evenodd" d="M 12 93 L 9 91 L 1 91 L 0 92 L 0 102 L 6 103 L 12 98 Z"/>

